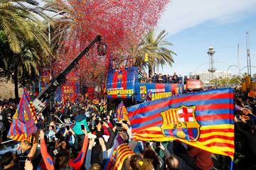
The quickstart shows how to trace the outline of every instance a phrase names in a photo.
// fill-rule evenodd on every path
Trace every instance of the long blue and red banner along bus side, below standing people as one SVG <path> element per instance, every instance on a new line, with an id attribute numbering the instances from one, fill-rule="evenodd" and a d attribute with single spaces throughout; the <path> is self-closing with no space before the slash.
<path id="1" fill-rule="evenodd" d="M 154 101 L 184 92 L 183 84 L 136 84 L 136 101 Z"/>

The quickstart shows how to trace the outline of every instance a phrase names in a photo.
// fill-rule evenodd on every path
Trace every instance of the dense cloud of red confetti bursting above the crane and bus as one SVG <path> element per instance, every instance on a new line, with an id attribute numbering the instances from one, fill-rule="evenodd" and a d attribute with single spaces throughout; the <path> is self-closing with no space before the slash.
<path id="1" fill-rule="evenodd" d="M 110 54 L 129 54 L 131 43 L 138 43 L 148 28 L 156 26 L 170 0 L 57 0 L 69 6 L 65 13 L 73 25 L 68 40 L 58 50 L 59 60 L 53 64 L 55 74 L 62 71 L 96 35 L 107 44 L 107 57 L 97 55 L 97 45 L 82 57 L 79 72 L 82 84 L 95 84 L 107 72 Z M 115 59 L 120 56 L 113 56 Z M 103 77 L 104 79 L 104 77 Z M 102 80 L 102 79 L 101 79 Z M 98 82 L 97 82 L 98 83 Z"/>

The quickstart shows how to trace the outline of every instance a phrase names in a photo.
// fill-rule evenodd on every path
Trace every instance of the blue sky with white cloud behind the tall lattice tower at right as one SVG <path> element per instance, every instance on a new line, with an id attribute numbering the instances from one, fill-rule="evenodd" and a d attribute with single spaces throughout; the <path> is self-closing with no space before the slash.
<path id="1" fill-rule="evenodd" d="M 225 71 L 230 65 L 247 72 L 246 32 L 249 33 L 252 74 L 256 73 L 256 0 L 172 0 L 159 21 L 166 40 L 176 52 L 172 67 L 156 72 L 188 75 L 209 67 L 208 47 L 215 48 L 215 67 Z M 238 52 L 239 44 L 239 52 Z M 243 68 L 243 69 L 242 69 Z M 230 67 L 238 74 L 237 67 Z"/>

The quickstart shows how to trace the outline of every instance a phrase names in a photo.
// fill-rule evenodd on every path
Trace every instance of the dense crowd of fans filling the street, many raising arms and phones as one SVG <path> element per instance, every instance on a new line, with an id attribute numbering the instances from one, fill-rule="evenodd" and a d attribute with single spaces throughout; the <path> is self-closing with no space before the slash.
<path id="1" fill-rule="evenodd" d="M 246 111 L 255 113 L 255 98 L 235 89 L 235 104 L 246 108 L 236 111 L 238 116 L 234 118 L 235 149 L 239 153 L 235 155 L 235 168 L 255 169 L 256 126 L 253 116 L 250 120 L 246 117 Z M 0 109 L 4 141 L 16 105 L 13 100 L 2 101 Z M 215 169 L 213 154 L 196 147 L 176 141 L 133 140 L 129 121 L 117 121 L 114 111 L 115 106 L 107 103 L 106 98 L 79 96 L 75 103 L 55 103 L 54 120 L 46 129 L 38 128 L 31 141 L 23 140 L 16 152 L 20 154 L 4 153 L 0 159 L 1 169 L 103 169 L 117 136 L 134 152 L 124 160 L 122 169 Z M 46 124 L 43 120 L 47 120 L 47 115 L 38 115 L 38 120 Z M 227 167 L 226 164 L 224 169 Z"/>

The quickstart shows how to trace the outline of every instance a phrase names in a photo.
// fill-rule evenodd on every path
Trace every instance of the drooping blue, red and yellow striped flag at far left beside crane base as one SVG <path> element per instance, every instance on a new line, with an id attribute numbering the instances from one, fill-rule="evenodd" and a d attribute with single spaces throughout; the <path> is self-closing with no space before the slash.
<path id="1" fill-rule="evenodd" d="M 12 118 L 8 137 L 17 140 L 29 140 L 36 132 L 36 111 L 26 88 L 24 88 L 21 101 Z"/>

